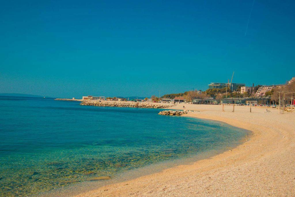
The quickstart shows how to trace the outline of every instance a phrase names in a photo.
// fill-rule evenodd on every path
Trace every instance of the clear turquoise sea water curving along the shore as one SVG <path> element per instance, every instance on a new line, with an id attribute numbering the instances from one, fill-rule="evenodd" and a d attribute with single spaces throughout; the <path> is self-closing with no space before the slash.
<path id="1" fill-rule="evenodd" d="M 160 109 L 0 97 L 0 194 L 32 196 L 237 146 L 247 131 Z"/>

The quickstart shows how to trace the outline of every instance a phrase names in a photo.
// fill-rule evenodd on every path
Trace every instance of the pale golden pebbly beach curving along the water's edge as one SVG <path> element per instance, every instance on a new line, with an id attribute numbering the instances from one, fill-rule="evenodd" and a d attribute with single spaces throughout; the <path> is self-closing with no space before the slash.
<path id="1" fill-rule="evenodd" d="M 178 104 L 172 109 L 252 131 L 238 147 L 82 196 L 295 196 L 295 113 L 247 106 Z"/>

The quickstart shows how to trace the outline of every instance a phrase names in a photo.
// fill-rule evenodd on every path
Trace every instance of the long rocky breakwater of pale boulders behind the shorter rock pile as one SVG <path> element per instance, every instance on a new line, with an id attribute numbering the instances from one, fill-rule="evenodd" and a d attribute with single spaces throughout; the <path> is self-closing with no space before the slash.
<path id="1" fill-rule="evenodd" d="M 140 103 L 140 102 L 128 102 L 128 101 L 83 101 L 80 105 L 91 106 L 108 106 L 108 107 L 139 107 L 139 108 L 168 108 L 173 104 L 165 103 Z"/>

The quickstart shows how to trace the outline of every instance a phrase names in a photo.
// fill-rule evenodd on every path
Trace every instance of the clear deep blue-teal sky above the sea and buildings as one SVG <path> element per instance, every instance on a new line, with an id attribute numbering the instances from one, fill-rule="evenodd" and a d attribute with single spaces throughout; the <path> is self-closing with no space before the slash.
<path id="1" fill-rule="evenodd" d="M 253 5 L 253 6 L 252 6 Z M 295 1 L 1 1 L 0 93 L 151 96 L 295 75 Z M 252 12 L 251 12 L 252 9 Z"/>

